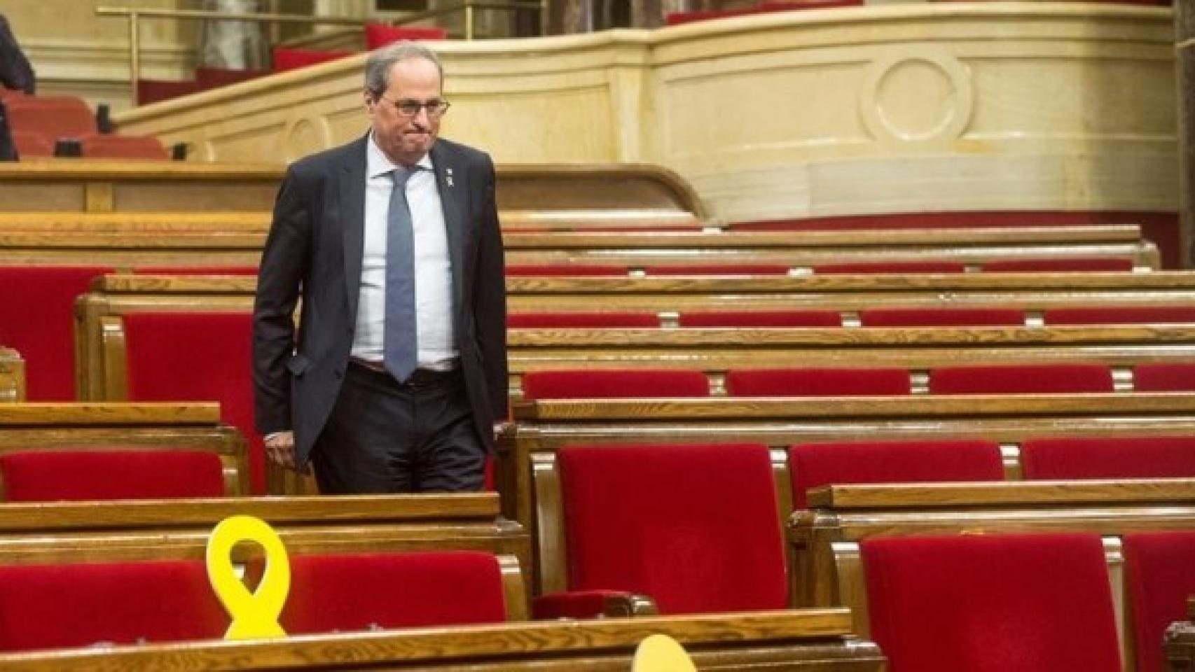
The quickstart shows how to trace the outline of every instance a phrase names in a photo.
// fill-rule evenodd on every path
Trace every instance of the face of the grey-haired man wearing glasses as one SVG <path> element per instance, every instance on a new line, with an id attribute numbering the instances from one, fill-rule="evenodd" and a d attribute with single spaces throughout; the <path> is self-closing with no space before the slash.
<path id="1" fill-rule="evenodd" d="M 431 149 L 440 132 L 440 118 L 421 107 L 404 116 L 396 103 L 441 100 L 440 70 L 427 58 L 409 58 L 391 67 L 390 80 L 381 98 L 366 91 L 366 111 L 373 119 L 374 140 L 391 161 L 411 166 Z"/>

